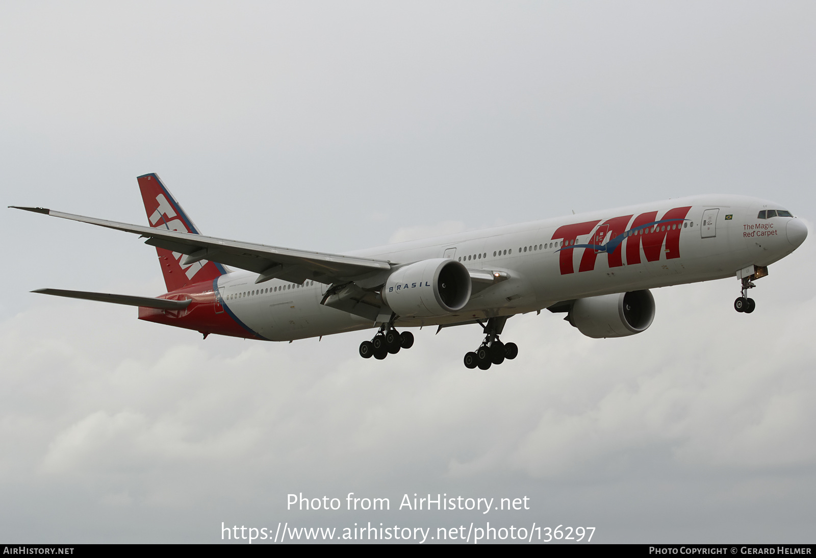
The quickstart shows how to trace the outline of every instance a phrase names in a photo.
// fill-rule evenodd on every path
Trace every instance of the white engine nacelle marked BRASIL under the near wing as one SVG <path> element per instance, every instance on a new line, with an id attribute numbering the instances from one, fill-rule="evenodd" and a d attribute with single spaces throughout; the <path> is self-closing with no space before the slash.
<path id="1" fill-rule="evenodd" d="M 470 300 L 470 273 L 446 258 L 424 259 L 388 276 L 383 300 L 397 316 L 444 316 L 464 308 Z"/>

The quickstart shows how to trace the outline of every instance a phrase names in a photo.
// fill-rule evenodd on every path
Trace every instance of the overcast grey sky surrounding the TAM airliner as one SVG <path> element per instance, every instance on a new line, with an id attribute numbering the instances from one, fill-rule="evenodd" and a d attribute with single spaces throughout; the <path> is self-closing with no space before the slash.
<path id="1" fill-rule="evenodd" d="M 816 222 L 813 2 L 3 2 L 3 206 L 310 250 L 695 193 Z M 0 540 L 215 542 L 220 526 L 584 525 L 597 542 L 813 542 L 816 248 L 654 290 L 588 339 L 543 312 L 295 343 L 201 335 L 55 287 L 164 292 L 133 235 L 3 210 Z M 813 236 L 811 225 L 811 236 Z M 286 494 L 391 498 L 286 511 Z M 529 511 L 398 511 L 403 494 Z"/>

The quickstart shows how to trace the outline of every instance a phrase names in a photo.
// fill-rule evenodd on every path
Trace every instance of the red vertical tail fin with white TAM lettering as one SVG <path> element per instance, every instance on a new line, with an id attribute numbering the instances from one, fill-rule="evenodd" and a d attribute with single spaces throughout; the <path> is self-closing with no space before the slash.
<path id="1" fill-rule="evenodd" d="M 199 234 L 193 220 L 190 219 L 179 202 L 162 184 L 155 173 L 137 177 L 139 189 L 142 192 L 144 210 L 147 211 L 151 227 L 169 228 L 171 231 Z M 183 254 L 171 252 L 164 248 L 157 248 L 159 263 L 162 264 L 162 273 L 167 291 L 180 289 L 190 283 L 212 281 L 225 273 L 224 266 L 202 259 L 187 266 L 181 265 Z"/>

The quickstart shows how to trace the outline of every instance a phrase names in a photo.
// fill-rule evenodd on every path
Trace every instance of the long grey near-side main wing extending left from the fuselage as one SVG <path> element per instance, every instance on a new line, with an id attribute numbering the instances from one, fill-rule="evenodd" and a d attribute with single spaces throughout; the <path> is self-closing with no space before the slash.
<path id="1" fill-rule="evenodd" d="M 62 213 L 43 207 L 10 207 L 43 213 L 60 219 L 70 219 L 95 224 L 100 227 L 114 228 L 126 233 L 139 234 L 141 237 L 147 238 L 145 244 L 187 255 L 186 258 L 182 259 L 182 265 L 188 265 L 203 259 L 224 263 L 235 268 L 259 273 L 256 283 L 275 278 L 281 278 L 284 281 L 293 283 L 302 283 L 307 279 L 313 279 L 321 283 L 354 281 L 388 271 L 392 266 L 391 262 L 379 259 L 357 258 L 307 250 L 291 250 L 279 246 L 206 237 L 201 234 L 179 233 L 166 228 L 118 223 L 106 219 Z"/>

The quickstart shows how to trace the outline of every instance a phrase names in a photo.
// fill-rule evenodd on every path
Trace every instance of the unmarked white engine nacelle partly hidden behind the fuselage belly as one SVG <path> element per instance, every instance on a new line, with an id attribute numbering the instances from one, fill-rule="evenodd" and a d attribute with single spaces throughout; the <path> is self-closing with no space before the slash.
<path id="1" fill-rule="evenodd" d="M 567 318 L 587 337 L 626 337 L 652 325 L 654 297 L 648 290 L 633 290 L 578 299 Z"/>

